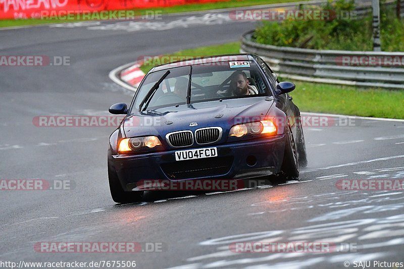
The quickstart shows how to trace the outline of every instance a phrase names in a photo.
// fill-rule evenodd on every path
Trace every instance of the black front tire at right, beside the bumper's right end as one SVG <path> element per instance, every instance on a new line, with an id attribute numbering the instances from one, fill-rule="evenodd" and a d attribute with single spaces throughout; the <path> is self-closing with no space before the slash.
<path id="1" fill-rule="evenodd" d="M 285 135 L 285 153 L 283 155 L 281 173 L 278 176 L 278 179 L 279 181 L 284 182 L 287 179 L 297 178 L 299 178 L 298 154 L 292 130 L 290 129 L 290 126 L 288 126 Z"/>

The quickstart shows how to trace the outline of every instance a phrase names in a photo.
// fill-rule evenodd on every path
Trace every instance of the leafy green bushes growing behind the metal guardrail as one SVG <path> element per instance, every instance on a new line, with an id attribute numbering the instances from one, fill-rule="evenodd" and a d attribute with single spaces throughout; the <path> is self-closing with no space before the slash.
<path id="1" fill-rule="evenodd" d="M 319 7 L 300 9 L 354 11 L 353 0 L 337 0 Z M 263 22 L 255 31 L 258 43 L 312 49 L 372 50 L 372 15 L 347 20 L 284 20 Z M 394 9 L 381 8 L 381 42 L 384 51 L 404 51 L 404 21 Z"/>

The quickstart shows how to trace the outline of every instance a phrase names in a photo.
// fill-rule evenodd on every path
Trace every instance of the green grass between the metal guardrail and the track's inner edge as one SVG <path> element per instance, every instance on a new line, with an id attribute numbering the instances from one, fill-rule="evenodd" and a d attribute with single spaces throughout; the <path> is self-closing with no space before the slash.
<path id="1" fill-rule="evenodd" d="M 233 42 L 182 50 L 169 55 L 201 57 L 238 53 L 239 48 L 240 43 Z M 143 65 L 140 69 L 146 73 L 152 67 Z M 296 90 L 290 95 L 301 111 L 404 119 L 404 91 L 292 82 L 296 84 Z"/>

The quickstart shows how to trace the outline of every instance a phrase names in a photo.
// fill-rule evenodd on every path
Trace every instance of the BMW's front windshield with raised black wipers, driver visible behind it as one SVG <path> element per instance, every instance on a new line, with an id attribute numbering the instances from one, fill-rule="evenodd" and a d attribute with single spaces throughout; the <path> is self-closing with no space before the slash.
<path id="1" fill-rule="evenodd" d="M 192 65 L 190 103 L 219 99 L 255 97 L 268 95 L 264 79 L 253 61 L 219 62 Z M 167 70 L 150 73 L 137 90 L 132 110 L 138 110 L 147 93 L 161 79 Z M 153 94 L 146 110 L 186 104 L 190 66 L 170 69 Z"/>

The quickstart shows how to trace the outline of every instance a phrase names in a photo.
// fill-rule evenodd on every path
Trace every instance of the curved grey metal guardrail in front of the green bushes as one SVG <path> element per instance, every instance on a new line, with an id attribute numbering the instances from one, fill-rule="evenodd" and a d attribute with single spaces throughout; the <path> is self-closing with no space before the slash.
<path id="1" fill-rule="evenodd" d="M 278 76 L 310 82 L 404 89 L 404 52 L 279 47 L 254 42 L 253 33 L 254 30 L 242 36 L 240 52 L 261 56 Z M 392 62 L 398 59 L 399 63 L 394 66 L 353 66 L 342 61 L 343 57 L 361 56 L 367 59 L 391 57 Z"/>

